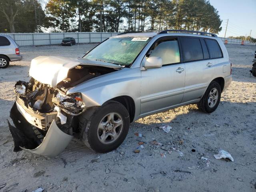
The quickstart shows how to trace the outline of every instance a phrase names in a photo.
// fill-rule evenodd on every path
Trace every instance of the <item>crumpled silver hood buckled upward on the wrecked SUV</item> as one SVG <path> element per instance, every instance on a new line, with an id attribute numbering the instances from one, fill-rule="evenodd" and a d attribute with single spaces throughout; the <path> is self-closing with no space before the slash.
<path id="1" fill-rule="evenodd" d="M 68 70 L 78 65 L 103 66 L 116 69 L 122 68 L 122 66 L 116 64 L 83 58 L 39 56 L 32 59 L 29 75 L 41 83 L 54 87 L 67 78 Z"/>

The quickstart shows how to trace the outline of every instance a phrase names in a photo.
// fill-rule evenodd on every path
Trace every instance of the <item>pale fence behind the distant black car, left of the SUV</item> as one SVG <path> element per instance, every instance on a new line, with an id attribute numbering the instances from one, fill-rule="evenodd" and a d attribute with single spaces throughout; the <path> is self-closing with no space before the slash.
<path id="1" fill-rule="evenodd" d="M 76 43 L 98 43 L 119 33 L 68 32 L 68 33 L 7 33 L 19 46 L 60 44 L 65 37 L 72 37 Z"/>

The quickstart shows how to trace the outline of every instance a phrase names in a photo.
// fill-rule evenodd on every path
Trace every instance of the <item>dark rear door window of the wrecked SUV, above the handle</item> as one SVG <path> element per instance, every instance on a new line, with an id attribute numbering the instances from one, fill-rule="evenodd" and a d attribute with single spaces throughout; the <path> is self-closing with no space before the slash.
<path id="1" fill-rule="evenodd" d="M 204 59 L 202 46 L 199 38 L 180 38 L 184 61 Z"/>

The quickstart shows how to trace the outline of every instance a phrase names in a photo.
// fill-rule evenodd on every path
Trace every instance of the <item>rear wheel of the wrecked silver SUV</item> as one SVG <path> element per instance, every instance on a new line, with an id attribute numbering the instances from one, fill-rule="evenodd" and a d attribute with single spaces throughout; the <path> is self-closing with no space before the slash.
<path id="1" fill-rule="evenodd" d="M 218 82 L 216 81 L 212 81 L 208 86 L 206 92 L 204 93 L 204 96 L 197 103 L 198 109 L 205 113 L 214 112 L 220 103 L 220 95 L 221 95 L 220 84 L 218 84 Z"/>

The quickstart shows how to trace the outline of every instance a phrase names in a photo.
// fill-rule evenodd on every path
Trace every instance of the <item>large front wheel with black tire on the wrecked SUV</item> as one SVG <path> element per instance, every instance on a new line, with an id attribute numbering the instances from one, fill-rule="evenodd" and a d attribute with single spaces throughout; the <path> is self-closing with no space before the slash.
<path id="1" fill-rule="evenodd" d="M 114 114 L 113 121 L 108 121 L 111 116 L 108 114 Z M 86 116 L 85 113 L 79 116 L 79 128 L 82 131 L 81 134 L 84 144 L 91 150 L 99 153 L 110 152 L 120 146 L 126 138 L 130 127 L 130 116 L 124 105 L 119 102 L 110 101 L 96 108 L 89 118 L 86 118 Z M 103 122 L 102 126 L 100 126 L 101 122 Z M 118 123 L 115 124 L 115 122 L 119 122 L 119 124 L 122 122 L 122 125 L 116 126 Z M 113 124 L 114 126 L 112 128 Z M 111 128 L 112 131 L 108 130 Z"/>

